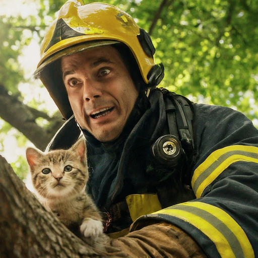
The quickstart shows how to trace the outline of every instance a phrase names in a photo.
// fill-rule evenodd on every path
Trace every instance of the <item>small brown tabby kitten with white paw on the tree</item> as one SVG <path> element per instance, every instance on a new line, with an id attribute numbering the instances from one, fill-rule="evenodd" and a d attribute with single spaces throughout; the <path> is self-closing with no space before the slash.
<path id="1" fill-rule="evenodd" d="M 75 234 L 80 227 L 85 237 L 100 235 L 100 213 L 85 191 L 89 177 L 85 140 L 80 139 L 69 150 L 48 153 L 27 148 L 26 157 L 35 195 L 42 205 Z"/>

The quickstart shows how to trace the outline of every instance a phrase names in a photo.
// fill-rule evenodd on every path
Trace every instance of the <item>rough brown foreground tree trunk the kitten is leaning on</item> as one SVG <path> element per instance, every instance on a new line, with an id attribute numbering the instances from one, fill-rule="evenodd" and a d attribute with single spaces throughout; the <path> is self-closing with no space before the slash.
<path id="1" fill-rule="evenodd" d="M 0 156 L 0 257 L 117 257 L 119 252 L 104 234 L 84 241 L 43 208 Z"/>

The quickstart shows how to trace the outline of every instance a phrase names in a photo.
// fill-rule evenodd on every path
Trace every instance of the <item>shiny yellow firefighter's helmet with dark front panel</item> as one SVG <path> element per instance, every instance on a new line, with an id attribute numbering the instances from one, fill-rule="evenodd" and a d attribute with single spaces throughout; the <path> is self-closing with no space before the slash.
<path id="1" fill-rule="evenodd" d="M 134 54 L 145 83 L 150 87 L 158 85 L 163 79 L 163 65 L 155 64 L 150 36 L 130 15 L 112 5 L 84 5 L 82 0 L 69 0 L 61 7 L 41 44 L 41 59 L 34 75 L 41 79 L 64 118 L 68 119 L 73 111 L 58 68 L 60 58 L 118 42 Z"/>

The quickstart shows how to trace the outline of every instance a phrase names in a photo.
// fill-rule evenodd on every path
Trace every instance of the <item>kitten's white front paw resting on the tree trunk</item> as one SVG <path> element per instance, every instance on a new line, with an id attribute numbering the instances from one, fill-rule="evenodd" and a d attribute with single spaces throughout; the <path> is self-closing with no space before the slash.
<path id="1" fill-rule="evenodd" d="M 103 233 L 103 224 L 99 220 L 85 219 L 80 227 L 85 237 L 97 237 Z"/>

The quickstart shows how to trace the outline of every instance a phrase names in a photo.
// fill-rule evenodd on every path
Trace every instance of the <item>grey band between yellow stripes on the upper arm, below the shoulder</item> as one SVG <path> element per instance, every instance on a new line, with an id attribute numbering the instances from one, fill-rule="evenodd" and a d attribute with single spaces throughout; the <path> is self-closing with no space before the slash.
<path id="1" fill-rule="evenodd" d="M 195 195 L 197 193 L 197 190 L 199 188 L 199 186 L 201 185 L 201 183 L 209 176 L 213 173 L 213 171 L 222 163 L 224 162 L 227 158 L 234 156 L 234 155 L 242 155 L 242 156 L 246 156 L 249 158 L 254 158 L 254 159 L 258 159 L 258 154 L 257 153 L 252 153 L 252 152 L 246 152 L 246 151 L 238 151 L 238 150 L 234 150 L 234 151 L 229 151 L 226 152 L 224 154 L 222 154 L 217 160 L 215 160 L 206 170 L 204 170 L 199 177 L 196 179 L 195 183 L 193 184 L 193 192 L 195 192 Z M 209 159 L 209 157 L 208 157 Z M 219 174 L 218 174 L 219 175 Z"/>

